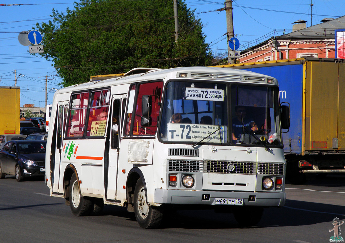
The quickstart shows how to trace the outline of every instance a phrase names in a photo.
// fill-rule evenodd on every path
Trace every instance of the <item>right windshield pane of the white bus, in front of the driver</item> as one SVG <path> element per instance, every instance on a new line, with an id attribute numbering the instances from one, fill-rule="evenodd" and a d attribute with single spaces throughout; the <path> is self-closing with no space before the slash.
<path id="1" fill-rule="evenodd" d="M 231 124 L 234 144 L 282 146 L 277 88 L 231 86 Z"/>

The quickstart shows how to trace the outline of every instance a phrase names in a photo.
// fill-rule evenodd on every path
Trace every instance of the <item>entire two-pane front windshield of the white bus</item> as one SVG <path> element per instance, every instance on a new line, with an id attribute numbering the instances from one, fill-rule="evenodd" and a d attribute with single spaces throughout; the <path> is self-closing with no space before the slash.
<path id="1" fill-rule="evenodd" d="M 222 82 L 168 82 L 160 138 L 172 143 L 282 146 L 277 89 L 234 83 L 228 98 L 227 87 Z"/>

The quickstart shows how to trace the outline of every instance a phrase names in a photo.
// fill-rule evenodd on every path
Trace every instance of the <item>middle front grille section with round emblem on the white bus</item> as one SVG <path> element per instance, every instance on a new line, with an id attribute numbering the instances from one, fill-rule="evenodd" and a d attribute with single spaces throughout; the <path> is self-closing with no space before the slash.
<path id="1" fill-rule="evenodd" d="M 227 170 L 228 164 L 234 165 L 234 171 Z M 204 165 L 205 173 L 226 173 L 226 174 L 254 174 L 254 162 L 237 162 L 237 161 L 207 161 Z"/>

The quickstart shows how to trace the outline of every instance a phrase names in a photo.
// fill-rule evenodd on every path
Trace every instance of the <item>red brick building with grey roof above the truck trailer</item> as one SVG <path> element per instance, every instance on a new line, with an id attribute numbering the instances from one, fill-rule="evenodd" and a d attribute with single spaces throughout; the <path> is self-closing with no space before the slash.
<path id="1" fill-rule="evenodd" d="M 300 57 L 334 58 L 334 30 L 345 29 L 345 16 L 325 18 L 306 28 L 306 21 L 294 22 L 293 32 L 272 37 L 241 51 L 237 62 L 273 61 Z"/>

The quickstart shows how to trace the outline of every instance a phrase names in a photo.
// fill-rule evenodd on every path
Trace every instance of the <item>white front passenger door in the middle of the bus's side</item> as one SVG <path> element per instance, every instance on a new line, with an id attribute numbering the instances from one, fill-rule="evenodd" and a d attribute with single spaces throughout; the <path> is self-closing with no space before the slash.
<path id="1" fill-rule="evenodd" d="M 112 112 L 110 121 L 110 145 L 109 145 L 109 160 L 108 172 L 105 171 L 105 179 L 107 180 L 106 199 L 117 200 L 117 173 L 118 173 L 118 158 L 120 146 L 120 134 L 124 120 L 124 112 L 126 106 L 126 95 L 112 96 Z M 125 152 L 126 153 L 126 152 Z"/>

